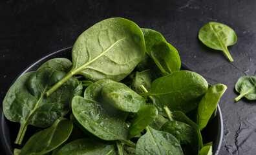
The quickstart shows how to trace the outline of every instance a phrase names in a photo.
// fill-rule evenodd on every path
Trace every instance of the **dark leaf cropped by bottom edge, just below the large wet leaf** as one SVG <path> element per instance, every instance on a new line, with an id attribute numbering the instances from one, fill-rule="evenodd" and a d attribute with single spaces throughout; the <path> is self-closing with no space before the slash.
<path id="1" fill-rule="evenodd" d="M 117 155 L 114 145 L 105 145 L 94 141 L 89 138 L 81 138 L 67 143 L 62 147 L 56 155 L 68 155 L 68 154 L 90 154 L 90 155 Z"/>

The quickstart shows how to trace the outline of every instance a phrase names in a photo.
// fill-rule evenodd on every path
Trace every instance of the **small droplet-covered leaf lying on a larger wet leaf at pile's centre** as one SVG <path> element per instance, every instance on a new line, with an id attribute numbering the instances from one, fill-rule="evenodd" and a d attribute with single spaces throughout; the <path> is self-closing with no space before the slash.
<path id="1" fill-rule="evenodd" d="M 105 84 L 101 95 L 107 103 L 125 112 L 137 112 L 145 106 L 145 99 L 123 83 Z"/>

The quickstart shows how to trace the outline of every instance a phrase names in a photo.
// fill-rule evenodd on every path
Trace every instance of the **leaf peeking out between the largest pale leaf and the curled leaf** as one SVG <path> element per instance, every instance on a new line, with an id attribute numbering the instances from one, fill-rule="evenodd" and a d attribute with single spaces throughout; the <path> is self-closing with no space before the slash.
<path id="1" fill-rule="evenodd" d="M 153 45 L 155 45 L 156 42 L 158 41 L 165 41 L 164 37 L 162 34 L 155 30 L 151 30 L 149 28 L 140 28 L 144 34 L 144 39 L 145 39 L 145 50 L 149 56 L 151 56 L 151 48 Z"/>

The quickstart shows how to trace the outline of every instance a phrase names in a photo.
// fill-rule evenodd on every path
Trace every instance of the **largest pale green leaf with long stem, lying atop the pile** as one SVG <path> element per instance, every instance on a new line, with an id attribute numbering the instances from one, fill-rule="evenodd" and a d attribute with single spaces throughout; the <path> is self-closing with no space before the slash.
<path id="1" fill-rule="evenodd" d="M 81 34 L 72 48 L 72 69 L 47 96 L 73 75 L 90 81 L 120 81 L 129 75 L 145 54 L 142 30 L 127 19 L 105 19 Z"/>

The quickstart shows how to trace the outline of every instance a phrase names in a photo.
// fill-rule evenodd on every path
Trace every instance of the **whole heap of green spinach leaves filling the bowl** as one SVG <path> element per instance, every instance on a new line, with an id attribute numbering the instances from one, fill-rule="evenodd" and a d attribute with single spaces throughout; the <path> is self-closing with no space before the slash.
<path id="1" fill-rule="evenodd" d="M 211 154 L 200 130 L 226 86 L 180 67 L 159 32 L 119 17 L 97 23 L 72 62 L 50 59 L 8 90 L 3 112 L 21 124 L 14 154 Z M 28 125 L 41 129 L 23 141 Z"/>

